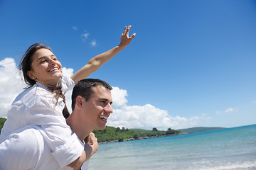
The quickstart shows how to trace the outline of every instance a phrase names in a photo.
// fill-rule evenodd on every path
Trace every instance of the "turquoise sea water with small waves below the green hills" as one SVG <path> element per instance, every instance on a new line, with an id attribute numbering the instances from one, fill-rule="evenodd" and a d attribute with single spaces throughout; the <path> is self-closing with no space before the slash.
<path id="1" fill-rule="evenodd" d="M 102 144 L 95 169 L 256 169 L 256 125 Z"/>

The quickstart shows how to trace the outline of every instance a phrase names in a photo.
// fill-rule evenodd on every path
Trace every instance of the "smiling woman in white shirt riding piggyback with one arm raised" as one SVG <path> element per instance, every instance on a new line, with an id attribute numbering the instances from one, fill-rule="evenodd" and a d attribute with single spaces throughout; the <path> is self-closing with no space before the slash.
<path id="1" fill-rule="evenodd" d="M 129 45 L 135 36 L 133 34 L 129 37 L 130 28 L 131 26 L 124 28 L 117 47 L 93 57 L 71 77 L 63 75 L 62 66 L 50 47 L 38 43 L 31 45 L 20 63 L 24 81 L 29 87 L 12 103 L 1 130 L 0 142 L 16 130 L 28 125 L 38 125 L 46 132 L 45 140 L 60 167 L 68 165 L 80 169 L 82 163 L 97 152 L 97 139 L 92 138 L 95 141 L 92 145 L 84 145 L 70 130 L 65 122 L 69 113 L 64 94 L 73 89 L 80 79 L 88 77 Z"/>

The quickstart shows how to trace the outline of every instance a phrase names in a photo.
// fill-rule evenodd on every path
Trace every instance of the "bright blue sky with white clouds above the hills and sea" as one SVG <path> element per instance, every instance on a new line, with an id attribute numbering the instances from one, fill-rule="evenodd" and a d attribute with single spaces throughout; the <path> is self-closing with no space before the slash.
<path id="1" fill-rule="evenodd" d="M 256 123 L 256 1 L 249 0 L 1 0 L 1 116 L 22 90 L 10 88 L 6 58 L 18 63 L 28 46 L 45 42 L 76 72 L 118 45 L 128 25 L 134 40 L 90 76 L 117 87 L 123 101 L 107 125 Z"/>

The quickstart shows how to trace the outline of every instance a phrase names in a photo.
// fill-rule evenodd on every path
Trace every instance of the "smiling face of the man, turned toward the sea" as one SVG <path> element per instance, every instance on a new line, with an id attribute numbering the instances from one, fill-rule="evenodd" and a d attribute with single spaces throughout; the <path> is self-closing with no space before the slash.
<path id="1" fill-rule="evenodd" d="M 83 98 L 82 101 L 83 113 L 85 113 L 82 115 L 83 122 L 89 125 L 92 130 L 103 130 L 107 118 L 113 113 L 111 92 L 100 85 L 93 87 L 92 91 L 89 100 L 85 101 Z"/>

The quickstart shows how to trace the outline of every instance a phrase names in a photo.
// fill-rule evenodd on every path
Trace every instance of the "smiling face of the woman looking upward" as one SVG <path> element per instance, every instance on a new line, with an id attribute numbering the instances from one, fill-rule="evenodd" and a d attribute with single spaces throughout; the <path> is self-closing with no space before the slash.
<path id="1" fill-rule="evenodd" d="M 27 72 L 28 77 L 43 84 L 56 86 L 63 76 L 57 57 L 46 48 L 41 48 L 33 54 L 31 68 L 31 71 Z"/>

